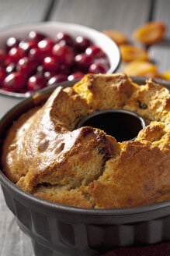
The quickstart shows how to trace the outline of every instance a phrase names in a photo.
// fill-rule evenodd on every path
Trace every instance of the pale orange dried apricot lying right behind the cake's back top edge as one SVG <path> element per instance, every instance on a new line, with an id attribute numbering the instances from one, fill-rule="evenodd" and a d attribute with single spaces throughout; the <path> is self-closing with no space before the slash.
<path id="1" fill-rule="evenodd" d="M 158 68 L 151 62 L 134 60 L 127 64 L 123 70 L 128 76 L 158 76 Z"/>

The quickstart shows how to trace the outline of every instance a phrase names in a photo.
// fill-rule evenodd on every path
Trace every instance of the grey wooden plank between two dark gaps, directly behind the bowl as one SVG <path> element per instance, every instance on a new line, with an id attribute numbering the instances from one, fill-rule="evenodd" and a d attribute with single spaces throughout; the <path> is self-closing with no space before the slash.
<path id="1" fill-rule="evenodd" d="M 147 21 L 150 5 L 148 0 L 58 0 L 50 20 L 120 30 L 130 39 L 134 29 Z"/>

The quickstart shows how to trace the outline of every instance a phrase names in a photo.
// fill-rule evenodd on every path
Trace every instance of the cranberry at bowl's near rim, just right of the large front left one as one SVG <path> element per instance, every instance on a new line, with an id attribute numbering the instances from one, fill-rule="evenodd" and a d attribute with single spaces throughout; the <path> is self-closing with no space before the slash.
<path id="1" fill-rule="evenodd" d="M 29 80 L 27 83 L 27 87 L 29 91 L 37 91 L 42 89 L 45 86 L 46 84 L 43 76 L 34 75 L 29 77 Z"/>

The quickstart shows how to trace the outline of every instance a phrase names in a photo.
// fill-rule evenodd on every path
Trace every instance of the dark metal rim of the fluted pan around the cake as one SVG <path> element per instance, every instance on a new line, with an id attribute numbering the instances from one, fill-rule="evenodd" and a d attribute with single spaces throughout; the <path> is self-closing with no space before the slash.
<path id="1" fill-rule="evenodd" d="M 139 81 L 144 82 L 148 77 L 144 76 L 130 76 L 130 78 L 133 80 L 134 83 L 139 83 Z M 155 79 L 156 81 L 160 81 L 163 86 L 168 87 L 170 89 L 170 81 L 167 80 L 160 80 L 160 79 Z M 54 91 L 54 88 L 62 86 L 65 84 L 65 87 L 67 86 L 72 86 L 75 84 L 75 81 L 72 82 L 65 82 L 65 83 L 60 83 L 52 87 L 46 87 L 42 89 L 41 91 L 36 92 L 35 94 L 46 94 L 46 93 L 52 93 Z M 6 119 L 12 109 L 16 109 L 18 106 L 22 107 L 24 104 L 26 104 L 29 101 L 33 101 L 33 96 L 31 95 L 29 98 L 24 99 L 23 101 L 19 102 L 17 105 L 9 109 L 8 112 L 5 113 L 5 115 L 2 117 L 0 120 L 0 123 Z M 0 140 L 1 142 L 1 140 Z M 82 215 L 93 215 L 93 216 L 121 216 L 121 215 L 141 215 L 144 213 L 148 212 L 154 212 L 161 210 L 162 208 L 169 208 L 170 207 L 170 199 L 166 201 L 161 201 L 158 203 L 154 204 L 147 204 L 147 205 L 142 205 L 142 206 L 136 206 L 136 207 L 131 207 L 131 208 L 80 208 L 80 207 L 75 207 L 75 206 L 69 206 L 65 204 L 58 204 L 54 203 L 52 201 L 47 201 L 44 200 L 40 197 L 33 196 L 33 194 L 29 194 L 25 190 L 20 189 L 19 187 L 16 186 L 16 184 L 12 183 L 5 174 L 1 171 L 0 169 L 0 183 L 5 184 L 5 186 L 9 187 L 11 190 L 14 190 L 16 194 L 19 195 L 19 197 L 25 197 L 26 200 L 32 201 L 34 204 L 41 207 L 46 207 L 51 210 L 55 210 L 57 212 L 65 212 L 65 213 L 72 213 L 72 214 L 82 214 Z"/>

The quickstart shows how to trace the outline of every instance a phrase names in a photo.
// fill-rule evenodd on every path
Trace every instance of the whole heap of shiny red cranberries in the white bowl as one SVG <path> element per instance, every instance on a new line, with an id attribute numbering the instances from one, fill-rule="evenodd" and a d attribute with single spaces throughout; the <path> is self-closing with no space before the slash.
<path id="1" fill-rule="evenodd" d="M 30 31 L 26 41 L 9 37 L 5 51 L 0 50 L 0 88 L 5 91 L 36 91 L 108 69 L 106 53 L 99 46 L 63 32 L 52 39 Z"/>

